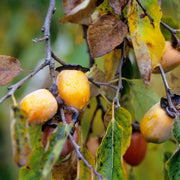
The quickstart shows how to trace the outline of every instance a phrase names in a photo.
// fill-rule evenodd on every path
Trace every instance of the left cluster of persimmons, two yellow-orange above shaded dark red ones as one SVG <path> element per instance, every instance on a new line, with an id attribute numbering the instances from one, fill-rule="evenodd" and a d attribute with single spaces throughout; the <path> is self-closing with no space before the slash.
<path id="1" fill-rule="evenodd" d="M 59 96 L 65 103 L 65 109 L 70 106 L 82 111 L 86 107 L 90 98 L 90 87 L 88 79 L 82 71 L 64 70 L 60 72 L 56 79 L 56 85 Z M 57 114 L 60 116 L 56 97 L 47 89 L 38 89 L 25 96 L 20 103 L 20 107 L 27 113 L 30 126 L 43 124 L 41 141 L 44 148 L 47 148 L 49 137 L 56 132 L 58 125 L 58 122 L 53 124 L 47 122 L 51 121 Z M 74 123 L 73 114 L 68 111 L 65 113 L 66 123 Z M 79 130 L 77 126 L 72 131 L 72 138 L 78 143 Z M 74 147 L 68 138 L 60 158 L 64 158 L 73 150 Z"/>

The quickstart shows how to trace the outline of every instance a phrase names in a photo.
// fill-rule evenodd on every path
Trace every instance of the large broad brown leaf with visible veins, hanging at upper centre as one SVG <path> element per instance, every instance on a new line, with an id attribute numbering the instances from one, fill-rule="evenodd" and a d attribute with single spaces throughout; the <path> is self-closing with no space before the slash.
<path id="1" fill-rule="evenodd" d="M 89 26 L 87 35 L 91 56 L 99 57 L 122 43 L 127 35 L 127 25 L 113 14 L 105 14 Z"/>

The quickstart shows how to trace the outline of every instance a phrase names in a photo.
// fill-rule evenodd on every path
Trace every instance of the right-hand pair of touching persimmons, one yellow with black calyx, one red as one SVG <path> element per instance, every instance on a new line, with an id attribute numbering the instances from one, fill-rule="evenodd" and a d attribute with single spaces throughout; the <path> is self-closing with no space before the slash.
<path id="1" fill-rule="evenodd" d="M 171 100 L 177 110 L 180 110 L 180 96 L 173 94 Z M 139 165 L 147 151 L 147 143 L 163 143 L 172 136 L 175 114 L 168 110 L 167 100 L 153 105 L 140 122 L 139 129 L 132 132 L 131 143 L 127 149 L 124 160 L 131 166 Z"/>

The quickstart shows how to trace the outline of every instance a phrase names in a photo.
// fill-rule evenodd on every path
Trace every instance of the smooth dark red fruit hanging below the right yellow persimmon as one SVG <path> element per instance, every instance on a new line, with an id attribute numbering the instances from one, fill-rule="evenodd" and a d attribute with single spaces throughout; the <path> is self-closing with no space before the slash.
<path id="1" fill-rule="evenodd" d="M 124 160 L 131 166 L 139 165 L 147 151 L 147 142 L 139 131 L 133 132 L 131 136 L 131 143 L 127 149 Z"/>

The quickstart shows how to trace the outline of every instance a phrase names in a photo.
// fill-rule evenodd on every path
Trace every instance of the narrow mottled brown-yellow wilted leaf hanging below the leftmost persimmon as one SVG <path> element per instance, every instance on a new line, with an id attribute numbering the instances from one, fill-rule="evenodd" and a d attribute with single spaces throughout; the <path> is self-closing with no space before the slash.
<path id="1" fill-rule="evenodd" d="M 21 167 L 29 162 L 31 154 L 27 114 L 18 106 L 11 107 L 11 133 L 15 163 Z"/>

